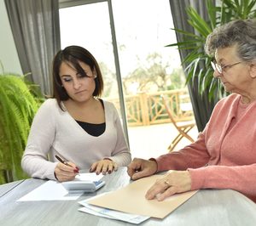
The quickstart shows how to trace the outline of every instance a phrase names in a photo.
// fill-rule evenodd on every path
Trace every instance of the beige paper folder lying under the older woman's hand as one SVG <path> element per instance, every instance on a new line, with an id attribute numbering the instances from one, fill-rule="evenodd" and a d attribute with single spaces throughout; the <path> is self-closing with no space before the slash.
<path id="1" fill-rule="evenodd" d="M 145 198 L 147 190 L 154 184 L 157 178 L 161 177 L 162 175 L 154 175 L 148 178 L 141 178 L 122 189 L 95 197 L 89 203 L 121 212 L 129 212 L 153 218 L 165 218 L 177 206 L 180 206 L 183 202 L 189 200 L 192 195 L 195 195 L 197 191 L 172 195 L 165 201 L 148 201 Z"/>

